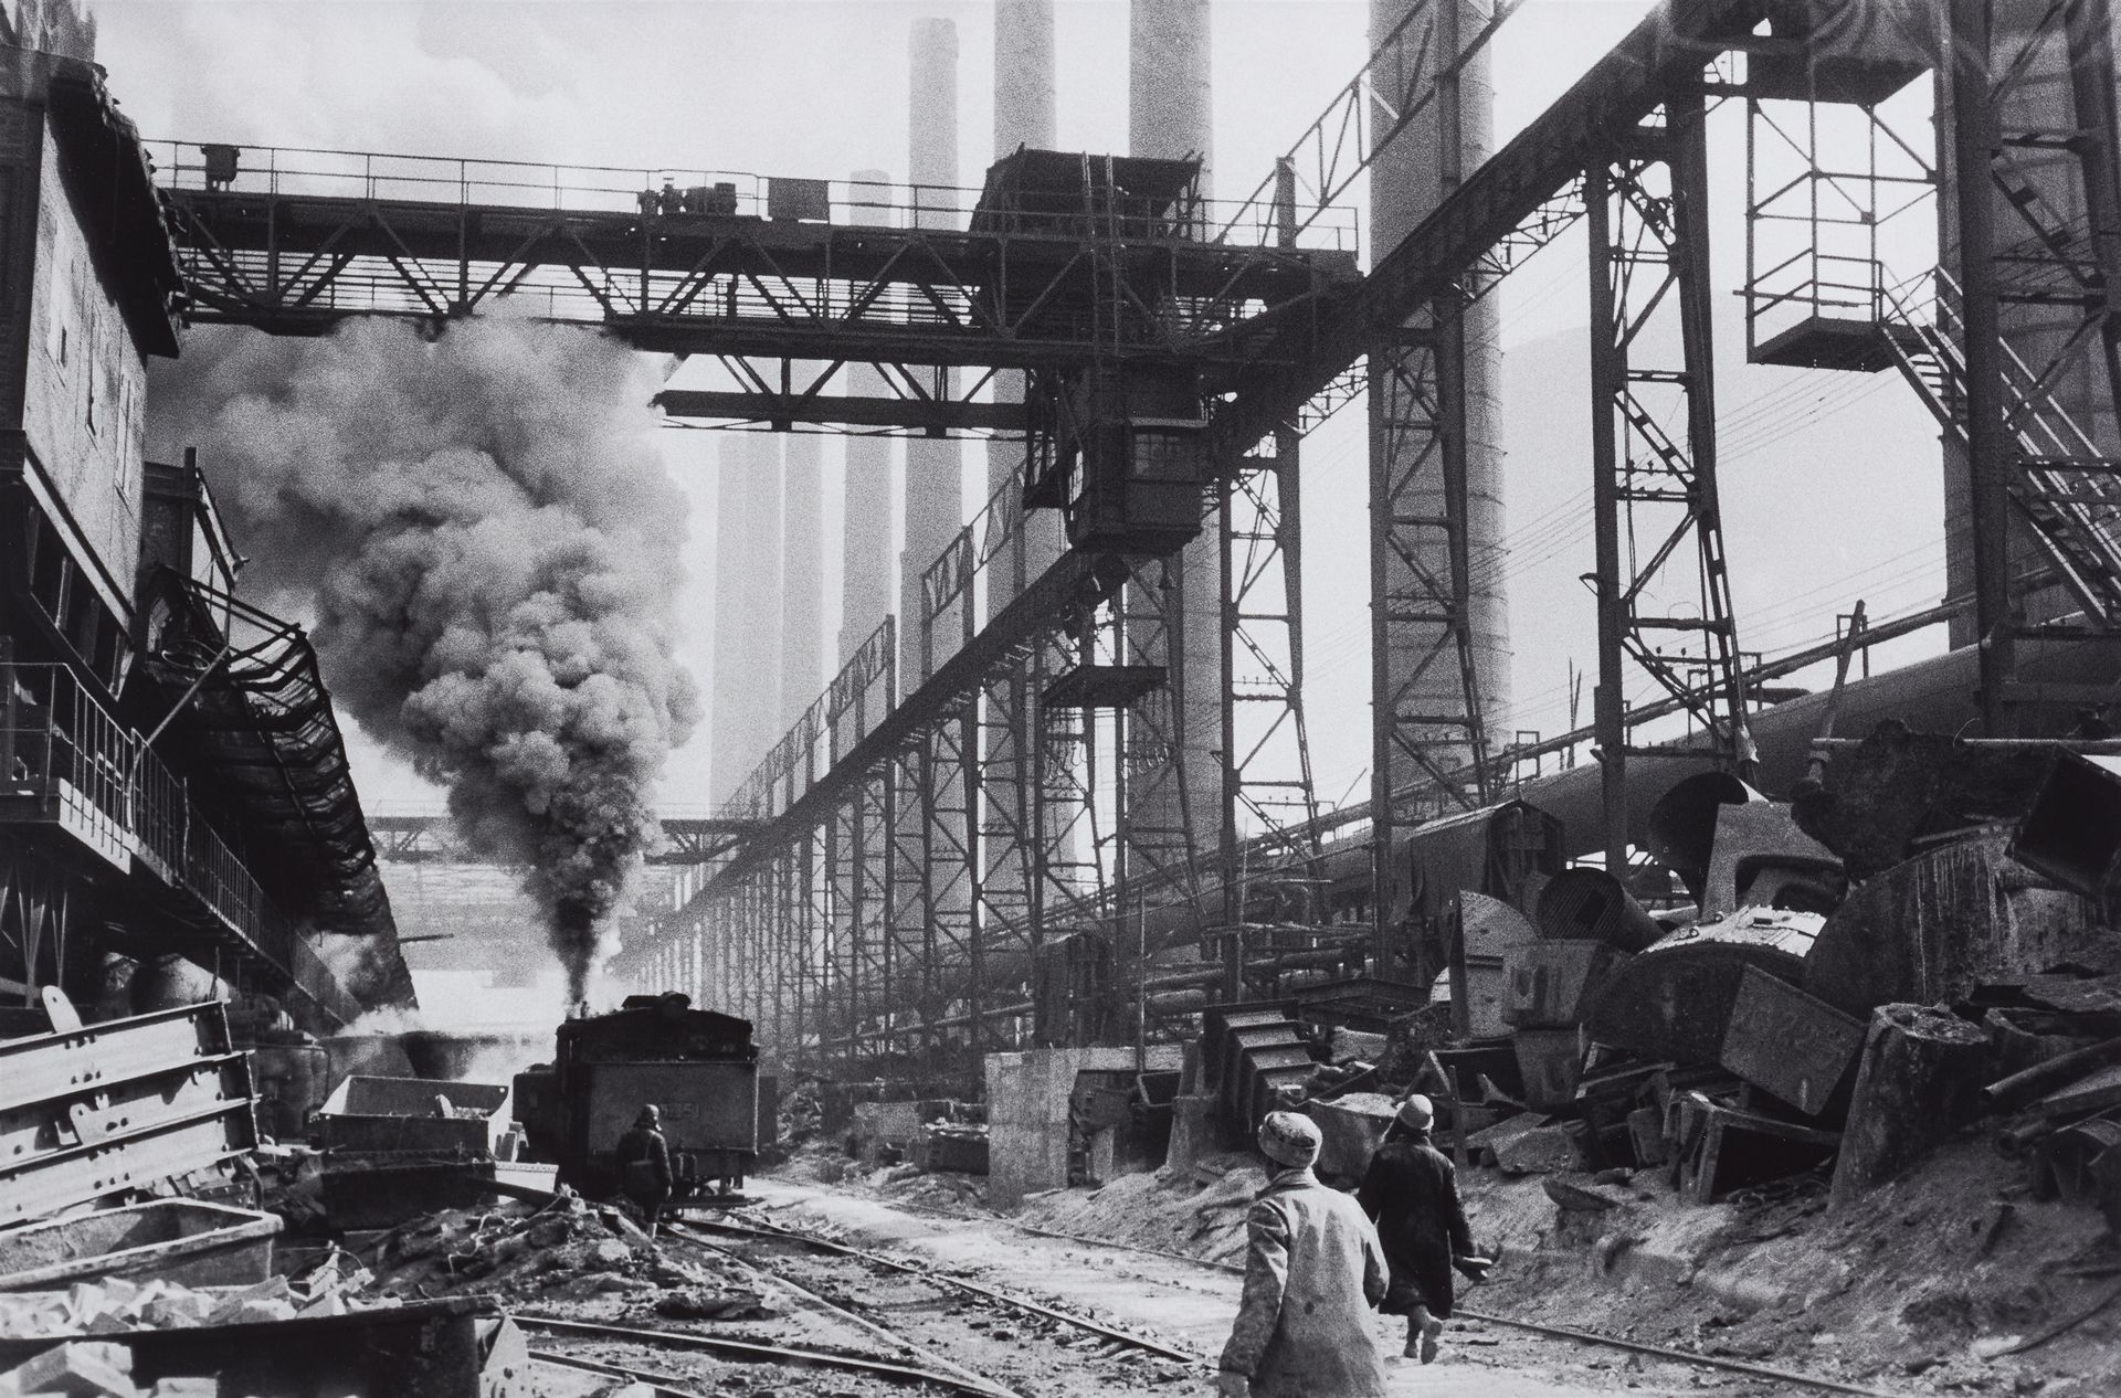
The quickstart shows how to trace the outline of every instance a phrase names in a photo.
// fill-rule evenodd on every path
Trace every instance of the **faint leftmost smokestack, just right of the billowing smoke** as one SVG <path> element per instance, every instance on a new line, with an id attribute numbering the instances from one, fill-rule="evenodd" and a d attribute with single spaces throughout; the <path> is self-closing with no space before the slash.
<path id="1" fill-rule="evenodd" d="M 781 443 L 723 433 L 715 499 L 708 789 L 728 802 L 781 734 Z"/>

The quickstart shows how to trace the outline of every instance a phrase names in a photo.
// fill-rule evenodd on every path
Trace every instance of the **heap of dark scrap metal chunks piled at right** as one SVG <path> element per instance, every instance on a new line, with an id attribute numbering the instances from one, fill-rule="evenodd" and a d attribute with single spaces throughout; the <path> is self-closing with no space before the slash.
<path id="1" fill-rule="evenodd" d="M 2034 1199 L 2121 1228 L 2121 759 L 1896 723 L 1830 753 L 1792 804 L 1678 783 L 1625 880 L 1468 895 L 1500 1023 L 1410 1020 L 1387 1076 L 1442 1099 L 1466 1158 L 1661 1169 L 1703 1203 L 1807 1179 L 1841 1203 L 1981 1126 Z M 1362 1114 L 1313 1056 L 1279 1010 L 1203 1042 L 1239 1120 Z"/>

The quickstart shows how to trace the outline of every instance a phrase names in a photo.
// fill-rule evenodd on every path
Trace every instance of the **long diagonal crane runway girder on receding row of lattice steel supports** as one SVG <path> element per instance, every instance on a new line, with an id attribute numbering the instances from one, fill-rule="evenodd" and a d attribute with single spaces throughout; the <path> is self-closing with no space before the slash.
<path id="1" fill-rule="evenodd" d="M 1699 34 L 1741 34 L 1750 23 L 1741 19 L 1750 13 L 1743 4 L 1695 4 L 1682 19 L 1699 25 Z M 1300 346 L 1290 352 L 1287 363 L 1298 367 L 1281 371 L 1262 361 L 1241 375 L 1241 382 L 1247 378 L 1249 382 L 1239 397 L 1215 412 L 1211 431 L 1217 433 L 1217 462 L 1222 462 L 1222 484 L 1215 494 L 1217 528 L 1230 560 L 1222 569 L 1226 579 L 1222 645 L 1226 660 L 1251 660 L 1264 679 L 1262 713 L 1279 717 L 1266 719 L 1262 730 L 1275 730 L 1277 723 L 1283 730 L 1300 728 L 1300 636 L 1292 626 L 1277 622 L 1294 615 L 1287 611 L 1294 566 L 1287 549 L 1294 543 L 1296 509 L 1285 492 L 1294 479 L 1287 465 L 1294 460 L 1300 426 L 1317 420 L 1330 409 L 1332 399 L 1355 382 L 1349 378 L 1349 365 L 1366 350 L 1396 342 L 1400 337 L 1396 327 L 1410 312 L 1427 310 L 1427 322 L 1419 325 L 1413 337 L 1404 337 L 1404 344 L 1393 344 L 1396 350 L 1419 356 L 1413 361 L 1417 367 L 1406 371 L 1408 359 L 1400 354 L 1396 361 L 1372 361 L 1370 375 L 1374 378 L 1379 369 L 1389 373 L 1391 365 L 1398 365 L 1400 382 L 1417 388 L 1402 395 L 1419 405 L 1423 418 L 1410 420 L 1402 435 L 1410 452 L 1402 456 L 1400 469 L 1404 473 L 1421 460 L 1440 475 L 1451 435 L 1451 418 L 1442 412 L 1451 390 L 1451 365 L 1447 346 L 1438 375 L 1434 365 L 1440 342 L 1434 327 L 1449 327 L 1455 308 L 1485 295 L 1502 274 L 1521 265 L 1529 252 L 1553 242 L 1584 214 L 1587 168 L 1593 159 L 1597 174 L 1591 178 L 1603 180 L 1597 185 L 1601 197 L 1614 197 L 1610 168 L 1620 159 L 1623 187 L 1637 199 L 1635 206 L 1620 210 L 1623 221 L 1633 221 L 1623 225 L 1623 235 L 1633 235 L 1635 225 L 1644 223 L 1635 208 L 1671 204 L 1669 189 L 1654 189 L 1659 178 L 1652 174 L 1654 161 L 1644 159 L 1640 146 L 1614 151 L 1610 138 L 1587 140 L 1593 127 L 1631 132 L 1671 98 L 1673 89 L 1699 89 L 1705 49 L 1673 47 L 1667 45 L 1669 38 L 1669 30 L 1650 32 L 1646 25 L 1623 45 L 1623 53 L 1601 64 L 1580 85 L 1574 93 L 1578 108 L 1574 115 L 1557 112 L 1542 119 L 1527 138 L 1512 142 L 1495 161 L 1474 172 L 1468 187 L 1447 199 L 1447 208 L 1432 219 L 1434 229 L 1417 233 L 1381 261 L 1366 284 L 1368 299 L 1351 301 L 1345 318 L 1319 316 L 1302 325 L 1283 320 L 1283 333 Z M 1597 112 L 1601 121 L 1587 125 L 1584 112 Z M 1642 140 L 1654 142 L 1657 129 L 1652 127 Z M 1610 221 L 1612 210 L 1606 216 Z M 1659 261 L 1657 255 L 1659 248 L 1642 240 L 1608 246 L 1612 265 L 1627 269 L 1625 282 L 1616 284 L 1620 297 L 1654 280 L 1650 267 Z M 1684 272 L 1686 259 L 1673 259 L 1669 246 L 1663 248 L 1657 276 L 1676 278 Z M 1697 291 L 1699 278 L 1688 284 L 1690 295 Z M 1648 305 L 1623 301 L 1627 325 L 1640 329 L 1659 301 L 1663 297 L 1652 297 Z M 1360 331 L 1360 342 L 1349 335 L 1351 329 Z M 1614 354 L 1625 359 L 1631 346 L 1618 329 L 1612 344 Z M 1353 352 L 1343 359 L 1347 350 Z M 1635 361 L 1642 363 L 1642 356 Z M 1705 412 L 1705 359 L 1701 365 Z M 1703 518 L 1705 501 L 1710 520 L 1705 539 L 1714 541 L 1714 462 L 1703 462 L 1710 469 L 1703 477 L 1703 469 L 1695 465 L 1697 454 L 1690 452 L 1693 441 L 1673 456 L 1648 454 L 1629 437 L 1640 435 L 1635 418 L 1627 412 L 1629 403 L 1671 388 L 1650 373 L 1648 365 L 1642 375 L 1631 378 L 1623 371 L 1618 382 L 1635 399 L 1616 395 L 1608 403 L 1614 422 L 1614 505 L 1616 509 L 1625 505 L 1631 518 L 1640 513 L 1648 520 L 1652 509 L 1673 503 L 1665 496 L 1678 492 L 1690 499 L 1688 522 L 1661 524 L 1690 537 Z M 1680 378 L 1682 388 L 1695 382 L 1688 375 Z M 1408 418 L 1413 416 L 1410 412 Z M 1262 439 L 1275 443 L 1273 456 L 1260 448 Z M 1037 437 L 1029 450 L 1037 460 L 1041 450 Z M 1652 473 L 1665 477 L 1663 490 L 1652 490 Z M 1041 473 L 1033 469 L 1027 475 Z M 1642 499 L 1623 501 L 1623 494 Z M 1190 838 L 1164 846 L 1152 838 L 1156 832 L 1128 829 L 1126 812 L 1141 804 L 1130 800 L 1128 785 L 1135 783 L 1133 796 L 1139 798 L 1139 783 L 1173 776 L 1171 753 L 1177 745 L 1169 717 L 1169 687 L 1160 683 L 1158 672 L 1162 656 L 1169 653 L 1162 645 L 1167 619 L 1156 607 L 1164 596 L 1160 573 L 1167 564 L 1069 554 L 1046 575 L 1027 579 L 1022 594 L 997 609 L 984 628 L 967 630 L 959 609 L 967 607 L 969 579 L 1003 556 L 991 535 L 991 528 L 967 530 L 937 560 L 925 588 L 923 611 L 929 617 L 929 634 L 948 636 L 954 653 L 946 658 L 931 653 L 933 672 L 927 683 L 906 696 L 878 732 L 844 751 L 834 768 L 836 774 L 772 819 L 770 829 L 708 885 L 702 899 L 696 899 L 696 906 L 713 908 L 717 916 L 721 910 L 744 910 L 755 897 L 747 899 L 738 889 L 759 887 L 764 870 L 772 863 L 766 849 L 793 849 L 812 838 L 810 829 L 831 829 L 825 899 L 829 927 L 793 933 L 797 940 L 819 938 L 831 948 L 825 957 L 829 965 L 825 991 L 808 1001 L 810 1025 L 789 1023 L 787 1006 L 793 993 L 785 984 L 770 991 L 778 997 L 772 1008 L 757 1001 L 759 991 L 740 991 L 751 999 L 738 1003 L 751 1006 L 755 1018 L 776 1027 L 772 1042 L 783 1054 L 817 1048 L 855 1063 L 921 1065 L 933 1071 L 942 1063 L 961 1065 L 963 1050 L 976 1046 L 1058 1042 L 1080 1035 L 1084 1020 L 1107 1027 L 1114 1023 L 1114 1001 L 1124 995 L 1114 993 L 1103 980 L 1111 972 L 1099 972 L 1101 965 L 1116 965 L 1124 982 L 1135 986 L 1137 1029 L 1152 1031 L 1156 1025 L 1147 984 L 1200 984 L 1190 980 L 1192 972 L 1171 974 L 1173 965 L 1186 965 L 1173 963 L 1171 953 L 1188 944 L 1198 946 L 1215 923 L 1237 931 L 1245 916 L 1245 876 L 1258 866 L 1302 855 L 1309 849 L 1307 840 L 1321 827 L 1317 819 L 1294 819 L 1298 810 L 1309 808 L 1311 798 L 1302 787 L 1296 787 L 1294 804 L 1275 806 L 1279 779 L 1268 772 L 1273 762 L 1266 759 L 1275 749 L 1245 742 L 1237 734 L 1239 700 L 1232 685 L 1224 704 L 1222 734 L 1224 817 L 1245 810 L 1251 819 L 1264 815 L 1290 819 L 1262 819 L 1262 825 L 1273 827 L 1270 834 L 1249 840 L 1239 838 L 1237 819 L 1226 819 L 1232 836 L 1220 844 L 1213 859 L 1203 859 Z M 1614 596 L 1627 598 L 1646 622 L 1654 624 L 1665 615 L 1650 605 L 1650 600 L 1663 602 L 1663 592 L 1652 594 L 1648 583 L 1659 579 L 1663 564 L 1676 552 L 1678 543 L 1650 549 L 1648 558 L 1637 560 L 1648 566 L 1629 579 L 1620 579 L 1618 564 L 1612 571 Z M 1712 543 L 1701 556 L 1720 560 L 1720 549 Z M 1273 600 L 1260 605 L 1262 583 L 1268 598 L 1281 596 L 1279 611 Z M 1124 598 L 1118 609 L 1111 605 L 1114 598 Z M 1722 598 L 1726 609 L 1726 586 Z M 1693 672 L 1699 666 L 1676 660 L 1671 647 L 1659 649 L 1642 641 L 1646 630 L 1633 628 L 1637 656 L 1646 658 L 1650 672 L 1680 681 L 1701 679 Z M 1729 628 L 1703 634 L 1726 643 L 1735 658 L 1735 636 Z M 1442 653 L 1449 666 L 1461 664 L 1457 632 L 1444 630 Z M 1241 668 L 1232 664 L 1232 679 Z M 1712 711 L 1729 702 L 1731 694 L 1733 689 L 1724 685 L 1714 698 L 1699 700 L 1693 689 L 1682 689 L 1688 706 Z M 974 728 L 984 730 L 984 745 Z M 1466 732 L 1463 726 L 1457 730 L 1457 742 L 1461 751 L 1472 751 Z M 1741 730 L 1724 723 L 1724 732 L 1733 734 L 1735 747 L 1735 734 Z M 1020 781 L 1027 745 L 1033 747 L 1033 781 Z M 1616 757 L 1625 757 L 1625 740 L 1608 747 Z M 1298 783 L 1300 753 L 1298 747 Z M 1402 764 L 1402 770 L 1408 766 L 1413 764 Z M 1472 774 L 1455 772 L 1442 759 L 1436 768 L 1478 793 L 1478 768 Z M 1387 810 L 1413 796 L 1413 787 L 1432 779 L 1419 766 L 1406 776 L 1404 785 L 1391 787 Z M 935 817 L 923 821 L 929 829 L 916 840 L 904 834 L 904 812 L 910 806 L 925 806 Z M 963 838 L 944 838 L 937 846 L 933 827 L 952 821 L 965 832 Z M 884 853 L 878 855 L 878 849 Z M 933 863 L 937 857 L 952 868 L 937 870 Z M 1203 872 L 1209 870 L 1222 876 L 1222 889 L 1215 891 L 1217 908 L 1203 906 L 1211 895 L 1203 883 Z M 923 919 L 921 927 L 908 925 L 914 908 L 937 906 L 937 889 L 954 887 L 967 889 L 963 914 L 946 908 L 940 921 Z M 952 921 L 957 916 L 963 921 Z M 711 953 L 708 959 L 721 957 L 723 965 L 711 965 L 706 980 L 711 986 L 723 984 L 734 991 L 736 982 L 728 978 L 744 976 L 761 961 L 761 938 L 770 933 L 757 914 L 732 931 L 730 946 Z M 1241 938 L 1230 936 L 1222 940 L 1220 950 L 1220 961 L 1192 961 L 1192 965 L 1205 967 L 1200 974 L 1215 984 L 1237 982 L 1243 993 L 1247 948 Z M 978 1008 L 971 982 L 963 978 L 974 955 L 982 961 L 982 974 L 976 978 Z M 1041 986 L 1052 984 L 1065 986 L 1071 999 L 1054 1008 L 1052 997 L 1041 993 Z M 1092 1010 L 1080 1012 L 1090 1001 Z M 817 1006 L 829 1010 L 819 1014 Z"/>

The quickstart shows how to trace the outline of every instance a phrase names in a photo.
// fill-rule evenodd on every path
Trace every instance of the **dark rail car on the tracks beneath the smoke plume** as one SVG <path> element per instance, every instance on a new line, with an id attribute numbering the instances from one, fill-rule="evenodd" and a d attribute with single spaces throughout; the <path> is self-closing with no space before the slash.
<path id="1" fill-rule="evenodd" d="M 554 1061 L 515 1073 L 515 1116 L 534 1160 L 590 1196 L 613 1194 L 613 1150 L 641 1107 L 662 1112 L 670 1201 L 740 1190 L 759 1154 L 759 1050 L 751 1020 L 687 995 L 628 995 L 560 1025 Z"/>

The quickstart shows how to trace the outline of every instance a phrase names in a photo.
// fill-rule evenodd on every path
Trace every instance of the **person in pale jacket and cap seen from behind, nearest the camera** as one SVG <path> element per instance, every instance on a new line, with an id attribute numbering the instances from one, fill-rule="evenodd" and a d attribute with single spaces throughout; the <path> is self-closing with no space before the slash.
<path id="1" fill-rule="evenodd" d="M 1273 1173 L 1245 1218 L 1245 1294 L 1215 1377 L 1224 1398 L 1383 1398 L 1370 1309 L 1385 1296 L 1385 1252 L 1362 1207 L 1311 1173 L 1319 1141 L 1296 1112 L 1260 1124 Z"/>

